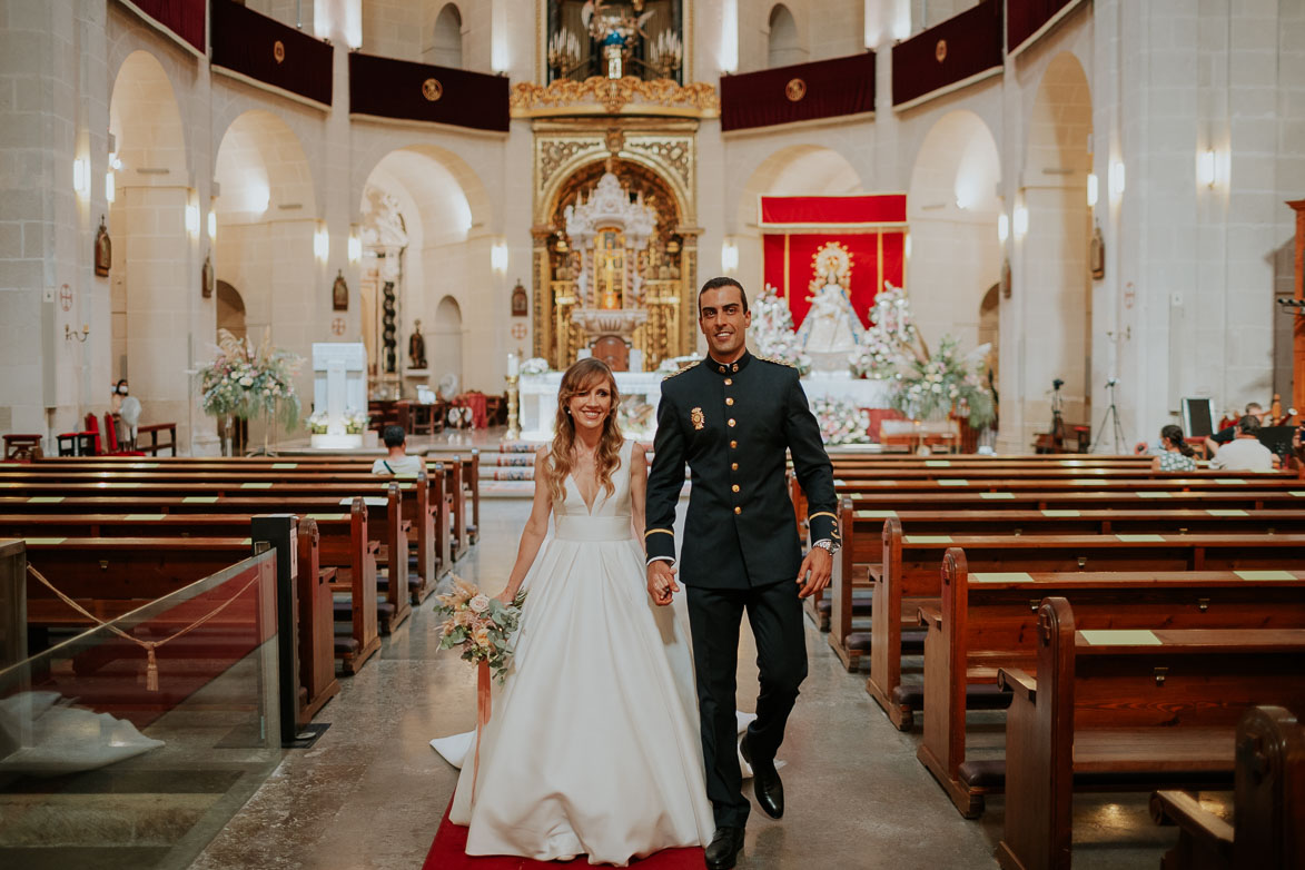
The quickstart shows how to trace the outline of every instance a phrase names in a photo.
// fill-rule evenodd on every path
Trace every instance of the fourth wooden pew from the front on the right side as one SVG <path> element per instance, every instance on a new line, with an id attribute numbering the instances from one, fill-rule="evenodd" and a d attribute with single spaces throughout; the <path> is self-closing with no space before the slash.
<path id="1" fill-rule="evenodd" d="M 944 553 L 959 547 L 981 573 L 1276 570 L 1305 561 L 1305 535 L 1039 535 L 903 536 L 883 522 L 882 571 L 873 582 L 870 676 L 865 690 L 907 730 L 915 699 L 902 689 L 902 629 L 919 626 L 919 607 L 938 605 Z M 907 617 L 907 614 L 910 614 Z M 923 637 L 920 638 L 923 642 Z"/>

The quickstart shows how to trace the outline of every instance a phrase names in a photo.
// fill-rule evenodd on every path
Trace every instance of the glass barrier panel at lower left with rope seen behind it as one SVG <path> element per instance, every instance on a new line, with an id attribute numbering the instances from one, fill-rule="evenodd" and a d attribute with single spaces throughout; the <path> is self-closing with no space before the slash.
<path id="1" fill-rule="evenodd" d="M 0 867 L 181 869 L 282 758 L 275 553 L 0 670 Z"/>

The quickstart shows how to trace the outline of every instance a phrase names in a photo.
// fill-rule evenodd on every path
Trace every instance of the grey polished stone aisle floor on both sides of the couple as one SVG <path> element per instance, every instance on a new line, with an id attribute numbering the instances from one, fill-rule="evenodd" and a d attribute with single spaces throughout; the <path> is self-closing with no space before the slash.
<path id="1" fill-rule="evenodd" d="M 458 563 L 463 577 L 501 587 L 529 503 L 487 502 L 482 543 Z M 433 604 L 433 601 L 431 603 Z M 429 607 L 388 638 L 380 659 L 342 680 L 320 713 L 329 730 L 291 750 L 249 802 L 209 844 L 198 870 L 418 870 L 453 793 L 457 771 L 431 737 L 474 725 L 472 669 L 437 652 Z M 752 646 L 744 622 L 744 644 Z M 745 869 L 996 867 L 1002 801 L 967 822 L 915 758 L 919 733 L 894 729 L 846 673 L 825 637 L 808 627 L 810 676 L 780 750 L 787 813 L 754 811 L 739 866 Z M 740 653 L 739 706 L 753 707 L 753 652 Z M 984 742 L 1000 747 L 990 723 Z M 1075 802 L 1074 866 L 1158 867 L 1173 828 L 1154 826 L 1144 794 L 1086 796 Z"/>

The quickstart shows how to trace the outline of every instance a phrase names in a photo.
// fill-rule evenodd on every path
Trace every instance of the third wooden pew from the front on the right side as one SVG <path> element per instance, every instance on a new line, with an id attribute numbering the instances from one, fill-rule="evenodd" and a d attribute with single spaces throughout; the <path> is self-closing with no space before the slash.
<path id="1" fill-rule="evenodd" d="M 1005 763 L 966 760 L 966 710 L 1001 708 L 1000 668 L 1034 668 L 1037 604 L 1074 607 L 1079 629 L 1305 629 L 1305 571 L 1075 571 L 971 574 L 942 560 L 942 607 L 919 609 L 924 640 L 924 740 L 916 753 L 966 818 L 1001 792 Z M 903 695 L 912 695 L 910 687 Z"/>

